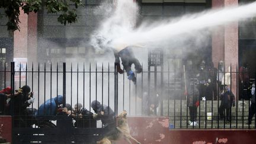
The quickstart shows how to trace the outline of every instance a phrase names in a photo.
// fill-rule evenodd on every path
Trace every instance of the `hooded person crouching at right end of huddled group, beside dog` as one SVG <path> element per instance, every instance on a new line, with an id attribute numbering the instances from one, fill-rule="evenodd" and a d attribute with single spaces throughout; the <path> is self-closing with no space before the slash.
<path id="1" fill-rule="evenodd" d="M 91 107 L 95 114 L 93 118 L 95 120 L 101 120 L 104 127 L 113 128 L 116 127 L 116 122 L 114 120 L 114 111 L 105 104 L 101 104 L 99 101 L 92 101 Z"/>

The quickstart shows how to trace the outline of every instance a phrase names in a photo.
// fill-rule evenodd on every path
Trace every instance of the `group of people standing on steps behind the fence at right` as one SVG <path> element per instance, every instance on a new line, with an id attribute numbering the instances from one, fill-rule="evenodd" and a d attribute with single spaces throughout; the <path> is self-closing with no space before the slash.
<path id="1" fill-rule="evenodd" d="M 194 73 L 197 78 L 196 84 L 186 85 L 185 94 L 187 96 L 187 106 L 190 112 L 190 121 L 188 124 L 197 126 L 197 107 L 200 101 L 220 100 L 219 120 L 224 120 L 226 123 L 231 123 L 231 107 L 235 107 L 235 95 L 229 88 L 230 84 L 226 84 L 225 64 L 223 61 L 218 63 L 218 69 L 210 62 L 208 65 L 204 60 L 200 62 L 197 73 Z M 190 73 L 188 79 L 194 76 Z M 255 84 L 252 84 L 251 94 L 249 93 L 249 74 L 248 64 L 244 63 L 239 68 L 239 100 L 251 100 L 249 108 L 248 124 L 251 124 L 252 117 L 256 113 L 255 104 Z M 231 80 L 230 80 L 231 81 Z M 217 96 L 219 95 L 219 98 Z"/>

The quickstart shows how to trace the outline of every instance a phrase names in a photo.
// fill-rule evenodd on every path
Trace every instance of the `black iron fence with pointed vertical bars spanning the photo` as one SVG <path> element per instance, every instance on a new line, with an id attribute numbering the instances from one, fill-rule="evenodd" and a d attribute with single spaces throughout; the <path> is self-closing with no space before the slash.
<path id="1" fill-rule="evenodd" d="M 252 111 L 250 105 L 253 105 L 249 101 L 249 97 L 251 97 L 254 79 L 249 79 L 246 87 L 245 84 L 239 84 L 239 76 L 244 75 L 244 72 L 239 72 L 238 68 L 235 68 L 235 71 L 227 72 L 217 70 L 215 73 L 217 77 L 213 76 L 211 82 L 208 79 L 202 80 L 200 75 L 197 75 L 200 72 L 185 72 L 185 69 L 177 69 L 169 64 L 165 66 L 167 69 L 159 69 L 156 66 L 152 68 L 149 66 L 148 71 L 136 73 L 137 81 L 136 84 L 133 84 L 127 79 L 126 73 L 120 75 L 114 71 L 114 65 L 111 64 L 77 63 L 76 65 L 66 65 L 66 63 L 61 63 L 61 65 L 52 65 L 43 63 L 37 66 L 33 64 L 31 66 L 15 65 L 14 62 L 11 63 L 11 66 L 5 64 L 4 69 L 0 71 L 2 89 L 10 86 L 11 95 L 15 95 L 15 89 L 29 85 L 31 91 L 34 92 L 34 103 L 28 105 L 27 113 L 23 113 L 21 110 L 17 113 L 15 112 L 17 105 L 15 106 L 14 101 L 11 100 L 10 106 L 5 107 L 9 111 L 1 113 L 15 116 L 18 121 L 17 124 L 14 122 L 15 127 L 55 127 L 59 118 L 52 112 L 57 109 L 50 107 L 49 114 L 40 120 L 34 119 L 34 116 L 40 115 L 41 105 L 44 110 L 47 108 L 47 100 L 62 95 L 62 105 L 58 105 L 60 108 L 67 107 L 67 104 L 75 107 L 81 103 L 82 107 L 94 113 L 91 102 L 97 100 L 101 105 L 107 105 L 114 110 L 115 114 L 126 110 L 130 116 L 167 116 L 170 129 L 247 129 L 256 127 L 255 116 L 248 121 L 249 111 Z M 233 69 L 231 68 L 231 70 Z M 213 79 L 219 79 L 220 73 L 223 74 L 223 80 L 213 81 Z M 200 82 L 201 80 L 205 80 L 204 83 Z M 210 87 L 215 88 L 209 88 L 209 83 L 211 83 Z M 200 88 L 200 85 L 203 85 L 205 89 Z M 226 92 L 225 86 L 228 86 L 231 92 L 227 94 L 229 95 L 227 98 L 231 100 L 232 94 L 235 98 L 234 101 L 229 101 L 230 104 L 223 105 L 221 95 L 223 95 L 222 92 Z M 242 87 L 241 91 L 238 86 Z M 196 95 L 195 89 L 199 90 L 199 95 Z M 185 91 L 187 93 L 184 93 Z M 206 95 L 202 95 L 202 91 Z M 210 95 L 207 96 L 207 94 Z M 193 101 L 194 104 L 191 107 L 188 107 L 189 95 L 192 95 L 192 98 L 199 97 L 198 102 Z M 241 95 L 247 95 L 247 97 Z M 13 97 L 11 96 L 11 98 Z M 205 100 L 203 97 L 206 97 Z M 50 101 L 50 105 L 52 103 Z M 220 111 L 223 116 L 220 115 Z M 70 114 L 77 113 L 71 110 Z M 32 122 L 27 122 L 28 118 Z M 79 118 L 82 121 L 81 127 L 103 126 L 102 123 L 96 123 L 91 117 Z M 76 119 L 76 121 L 79 120 Z"/>

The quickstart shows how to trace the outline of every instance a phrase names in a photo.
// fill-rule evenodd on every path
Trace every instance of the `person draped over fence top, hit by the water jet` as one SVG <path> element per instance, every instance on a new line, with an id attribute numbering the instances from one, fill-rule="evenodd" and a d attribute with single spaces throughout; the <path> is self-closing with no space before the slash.
<path id="1" fill-rule="evenodd" d="M 139 60 L 137 60 L 132 52 L 132 48 L 131 47 L 126 47 L 122 50 L 120 50 L 120 52 L 118 52 L 117 50 L 114 50 L 114 56 L 116 58 L 115 60 L 115 65 L 117 68 L 117 72 L 119 73 L 123 73 L 123 70 L 120 67 L 120 59 L 122 61 L 122 65 L 124 70 L 127 73 L 128 79 L 132 80 L 135 84 L 136 84 L 136 77 L 135 77 L 135 73 L 132 71 L 131 66 L 132 64 L 135 65 L 135 69 L 137 71 L 137 73 L 142 72 L 142 66 L 140 65 Z"/>

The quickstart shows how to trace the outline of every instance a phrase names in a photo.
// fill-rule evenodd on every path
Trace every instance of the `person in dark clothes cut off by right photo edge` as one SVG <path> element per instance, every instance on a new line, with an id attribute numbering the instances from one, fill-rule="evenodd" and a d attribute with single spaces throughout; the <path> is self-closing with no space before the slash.
<path id="1" fill-rule="evenodd" d="M 256 103 L 255 103 L 255 82 L 252 84 L 251 89 L 251 105 L 249 107 L 249 116 L 247 124 L 251 124 L 252 117 L 256 113 Z"/>

